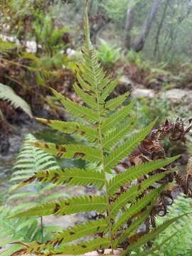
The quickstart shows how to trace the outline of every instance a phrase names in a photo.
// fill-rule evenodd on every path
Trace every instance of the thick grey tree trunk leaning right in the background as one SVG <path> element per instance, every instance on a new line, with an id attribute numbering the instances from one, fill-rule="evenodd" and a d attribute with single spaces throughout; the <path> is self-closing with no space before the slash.
<path id="1" fill-rule="evenodd" d="M 139 37 L 137 38 L 136 42 L 132 46 L 132 48 L 139 52 L 144 48 L 144 44 L 146 42 L 146 38 L 149 35 L 149 31 L 151 28 L 151 25 L 156 17 L 156 13 L 159 11 L 159 7 L 161 6 L 162 0 L 154 0 L 151 4 L 151 8 L 149 10 L 149 13 L 146 17 L 146 21 L 144 22 L 142 33 L 140 33 Z"/>

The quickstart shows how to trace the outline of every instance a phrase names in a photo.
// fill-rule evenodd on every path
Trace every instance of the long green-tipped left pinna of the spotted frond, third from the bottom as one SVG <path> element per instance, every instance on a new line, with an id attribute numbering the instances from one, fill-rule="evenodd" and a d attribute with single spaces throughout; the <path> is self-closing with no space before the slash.
<path id="1" fill-rule="evenodd" d="M 9 218 L 46 216 L 51 214 L 68 215 L 73 213 L 86 213 L 92 210 L 95 210 L 98 213 L 104 213 L 106 208 L 107 203 L 103 196 L 75 196 L 70 199 L 62 199 L 44 203 L 40 206 L 34 206 L 11 215 Z"/>

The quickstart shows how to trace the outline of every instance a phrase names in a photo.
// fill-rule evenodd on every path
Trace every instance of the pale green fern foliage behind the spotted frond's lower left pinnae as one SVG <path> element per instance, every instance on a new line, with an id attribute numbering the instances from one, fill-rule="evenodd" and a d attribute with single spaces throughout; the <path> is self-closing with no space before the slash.
<path id="1" fill-rule="evenodd" d="M 28 134 L 26 136 L 26 141 L 30 140 L 36 142 L 33 135 Z M 16 164 L 13 169 L 13 174 L 11 176 L 11 184 L 18 181 L 22 181 L 23 178 L 28 178 L 35 172 L 41 169 L 58 169 L 58 164 L 53 156 L 49 156 L 41 149 L 37 149 L 28 142 L 24 142 L 21 147 L 21 151 L 17 156 Z M 14 190 L 15 187 L 11 188 L 10 192 Z M 6 206 L 1 206 L 0 208 L 0 239 L 1 247 L 3 251 L 0 255 L 9 256 L 11 252 L 21 248 L 21 245 L 9 245 L 7 248 L 4 246 L 15 241 L 21 242 L 31 242 L 39 241 L 46 242 L 52 238 L 52 232 L 57 230 L 55 226 L 44 225 L 43 218 L 16 218 L 9 220 L 8 215 L 16 213 L 21 208 L 26 208 L 29 205 L 38 206 L 39 204 L 49 201 L 54 198 L 64 197 L 65 194 L 51 193 L 50 190 L 53 185 L 35 182 L 32 183 L 28 188 L 18 191 L 17 193 L 11 194 L 6 198 Z M 31 203 L 28 203 L 31 201 Z M 17 203 L 19 202 L 19 204 Z M 21 203 L 22 202 L 22 203 Z"/>

